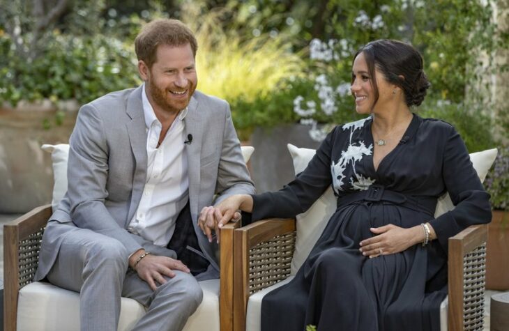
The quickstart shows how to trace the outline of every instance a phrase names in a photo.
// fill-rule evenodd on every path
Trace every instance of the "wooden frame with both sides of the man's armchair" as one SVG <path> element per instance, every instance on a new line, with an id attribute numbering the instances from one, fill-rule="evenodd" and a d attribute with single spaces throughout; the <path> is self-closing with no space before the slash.
<path id="1" fill-rule="evenodd" d="M 32 282 L 38 265 L 40 240 L 51 205 L 34 208 L 3 226 L 3 330 L 16 331 L 17 299 L 20 289 Z M 220 250 L 220 330 L 233 330 L 234 229 L 240 222 L 221 230 Z"/>

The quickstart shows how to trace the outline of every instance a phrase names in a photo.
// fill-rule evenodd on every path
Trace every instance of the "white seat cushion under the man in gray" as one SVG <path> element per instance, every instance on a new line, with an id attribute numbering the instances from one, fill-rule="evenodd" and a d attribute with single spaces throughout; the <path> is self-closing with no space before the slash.
<path id="1" fill-rule="evenodd" d="M 219 279 L 199 282 L 202 304 L 185 324 L 184 331 L 219 331 Z M 119 331 L 131 330 L 145 314 L 136 300 L 122 298 Z M 18 295 L 18 331 L 79 331 L 79 293 L 45 282 L 24 286 Z"/>

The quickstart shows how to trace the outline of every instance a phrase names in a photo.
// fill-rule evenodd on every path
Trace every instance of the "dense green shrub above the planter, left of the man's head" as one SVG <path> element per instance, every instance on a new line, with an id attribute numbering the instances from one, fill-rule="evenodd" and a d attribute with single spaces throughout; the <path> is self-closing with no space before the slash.
<path id="1" fill-rule="evenodd" d="M 57 35 L 48 42 L 45 56 L 26 63 L 13 54 L 10 40 L 0 45 L 0 100 L 16 105 L 20 100 L 76 99 L 88 102 L 100 95 L 138 84 L 132 51 L 107 36 Z"/>

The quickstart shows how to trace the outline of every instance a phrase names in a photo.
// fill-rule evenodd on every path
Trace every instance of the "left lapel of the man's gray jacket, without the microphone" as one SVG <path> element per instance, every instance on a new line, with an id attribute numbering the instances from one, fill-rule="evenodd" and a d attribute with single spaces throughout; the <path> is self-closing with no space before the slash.
<path id="1" fill-rule="evenodd" d="M 135 174 L 132 180 L 132 197 L 127 224 L 136 213 L 146 181 L 146 125 L 142 104 L 142 88 L 139 86 L 131 93 L 127 103 L 127 114 L 131 121 L 126 125 L 132 154 L 135 157 Z M 126 160 L 127 161 L 127 160 Z M 126 224 L 126 226 L 127 226 Z"/>

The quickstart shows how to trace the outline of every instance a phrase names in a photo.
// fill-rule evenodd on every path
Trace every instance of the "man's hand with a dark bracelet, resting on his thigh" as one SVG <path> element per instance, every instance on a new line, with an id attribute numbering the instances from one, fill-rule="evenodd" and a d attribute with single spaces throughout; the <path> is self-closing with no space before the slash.
<path id="1" fill-rule="evenodd" d="M 129 259 L 129 264 L 132 266 L 132 261 L 136 261 L 137 257 L 142 253 L 143 251 L 140 249 L 135 254 L 132 254 L 131 259 Z M 173 270 L 190 272 L 189 268 L 181 261 L 167 256 L 157 255 L 145 256 L 137 263 L 135 270 L 138 273 L 139 278 L 147 282 L 153 291 L 155 291 L 155 288 L 158 287 L 156 283 L 162 285 L 167 282 L 165 276 L 169 278 L 175 277 L 175 272 Z"/>

